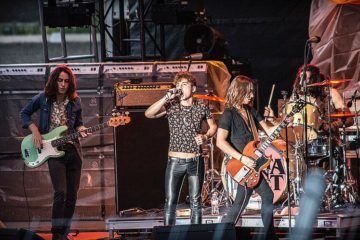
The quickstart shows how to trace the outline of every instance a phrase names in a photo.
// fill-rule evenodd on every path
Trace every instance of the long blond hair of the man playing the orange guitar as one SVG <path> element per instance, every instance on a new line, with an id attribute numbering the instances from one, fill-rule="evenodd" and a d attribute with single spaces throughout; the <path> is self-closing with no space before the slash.
<path id="1" fill-rule="evenodd" d="M 227 91 L 225 98 L 225 107 L 239 107 L 243 104 L 245 97 L 251 93 L 251 87 L 253 86 L 253 81 L 251 78 L 238 75 L 236 76 Z"/>

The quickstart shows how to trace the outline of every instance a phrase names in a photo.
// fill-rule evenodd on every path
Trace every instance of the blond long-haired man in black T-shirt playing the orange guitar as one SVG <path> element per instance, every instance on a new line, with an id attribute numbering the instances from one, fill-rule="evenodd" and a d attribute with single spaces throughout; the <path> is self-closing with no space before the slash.
<path id="1" fill-rule="evenodd" d="M 238 159 L 250 168 L 256 166 L 255 161 L 242 154 L 246 144 L 257 139 L 257 130 L 261 126 L 270 135 L 276 126 L 269 126 L 263 117 L 251 106 L 254 100 L 254 85 L 246 76 L 238 75 L 231 82 L 225 99 L 225 110 L 219 120 L 216 145 L 227 155 Z M 271 109 L 266 107 L 265 111 Z M 260 183 L 254 190 L 261 196 L 261 217 L 266 239 L 277 239 L 273 226 L 274 193 L 261 176 Z M 235 201 L 222 222 L 236 224 L 240 214 L 249 202 L 253 189 L 237 187 Z"/>

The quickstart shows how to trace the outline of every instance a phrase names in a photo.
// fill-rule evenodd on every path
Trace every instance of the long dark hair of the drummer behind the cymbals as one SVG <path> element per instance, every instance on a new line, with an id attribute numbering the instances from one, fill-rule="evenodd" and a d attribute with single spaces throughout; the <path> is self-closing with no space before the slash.
<path id="1" fill-rule="evenodd" d="M 302 72 L 304 71 L 303 66 L 304 65 L 299 67 L 297 74 L 296 74 L 295 81 L 294 81 L 294 86 L 293 86 L 294 90 L 297 91 L 298 93 L 302 93 L 300 81 L 301 81 Z M 319 82 L 325 80 L 325 76 L 320 72 L 320 69 L 314 64 L 307 64 L 305 71 L 310 72 L 310 78 L 309 78 L 309 82 L 307 84 L 319 83 Z M 321 88 L 321 87 L 309 87 L 308 92 L 310 93 L 311 96 L 318 98 L 318 97 L 323 97 L 323 95 L 324 95 L 323 89 L 324 88 Z"/>

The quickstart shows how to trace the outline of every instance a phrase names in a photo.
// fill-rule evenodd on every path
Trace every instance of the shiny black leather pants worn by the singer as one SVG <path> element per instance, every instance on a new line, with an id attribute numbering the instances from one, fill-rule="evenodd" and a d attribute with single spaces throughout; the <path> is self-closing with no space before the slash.
<path id="1" fill-rule="evenodd" d="M 169 157 L 165 172 L 164 225 L 175 225 L 176 204 L 185 175 L 188 176 L 191 223 L 201 224 L 201 189 L 204 181 L 202 156 L 193 159 Z"/>

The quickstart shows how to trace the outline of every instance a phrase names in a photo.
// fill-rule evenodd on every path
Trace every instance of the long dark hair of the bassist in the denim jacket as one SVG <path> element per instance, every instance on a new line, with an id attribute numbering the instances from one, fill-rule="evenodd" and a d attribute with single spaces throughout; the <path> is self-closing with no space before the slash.
<path id="1" fill-rule="evenodd" d="M 48 81 L 45 85 L 45 96 L 53 101 L 56 100 L 58 94 L 58 78 L 60 73 L 65 72 L 69 75 L 69 88 L 67 90 L 67 97 L 69 100 L 74 100 L 77 97 L 76 93 L 76 77 L 72 73 L 71 69 L 66 65 L 58 65 L 51 73 L 48 78 Z"/>

